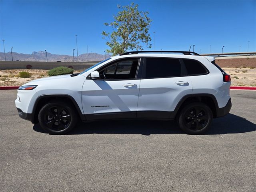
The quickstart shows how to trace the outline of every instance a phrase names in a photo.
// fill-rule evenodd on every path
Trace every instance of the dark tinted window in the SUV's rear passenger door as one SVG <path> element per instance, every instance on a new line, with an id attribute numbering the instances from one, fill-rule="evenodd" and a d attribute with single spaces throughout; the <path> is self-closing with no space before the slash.
<path id="1" fill-rule="evenodd" d="M 161 78 L 180 76 L 181 65 L 178 59 L 147 58 L 146 78 Z"/>

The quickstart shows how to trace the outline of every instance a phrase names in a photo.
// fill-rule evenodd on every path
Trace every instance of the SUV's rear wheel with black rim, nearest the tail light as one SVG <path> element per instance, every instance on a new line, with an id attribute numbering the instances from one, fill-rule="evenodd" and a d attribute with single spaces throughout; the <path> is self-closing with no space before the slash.
<path id="1" fill-rule="evenodd" d="M 206 104 L 193 102 L 182 108 L 178 124 L 186 134 L 196 135 L 208 130 L 212 118 L 212 110 Z"/>

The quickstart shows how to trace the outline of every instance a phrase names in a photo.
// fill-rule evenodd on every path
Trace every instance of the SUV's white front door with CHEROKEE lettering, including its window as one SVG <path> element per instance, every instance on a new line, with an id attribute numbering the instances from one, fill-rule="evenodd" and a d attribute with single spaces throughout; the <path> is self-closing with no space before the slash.
<path id="1" fill-rule="evenodd" d="M 82 106 L 87 120 L 136 118 L 140 80 L 136 72 L 140 58 L 114 61 L 97 71 L 82 88 Z"/>

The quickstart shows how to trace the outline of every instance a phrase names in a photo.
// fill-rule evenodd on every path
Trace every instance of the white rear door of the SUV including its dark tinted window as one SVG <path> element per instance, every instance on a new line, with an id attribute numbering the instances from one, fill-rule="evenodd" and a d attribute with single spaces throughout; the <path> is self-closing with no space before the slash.
<path id="1" fill-rule="evenodd" d="M 192 83 L 182 76 L 178 58 L 144 59 L 137 118 L 169 118 L 183 96 L 192 94 Z"/>

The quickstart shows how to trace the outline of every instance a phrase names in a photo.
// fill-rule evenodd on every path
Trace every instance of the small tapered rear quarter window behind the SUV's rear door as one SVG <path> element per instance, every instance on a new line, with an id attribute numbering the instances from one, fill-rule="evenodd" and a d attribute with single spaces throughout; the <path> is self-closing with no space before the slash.
<path id="1" fill-rule="evenodd" d="M 202 64 L 196 60 L 183 59 L 183 62 L 187 69 L 188 75 L 201 75 L 207 73 L 204 66 L 202 66 Z"/>

